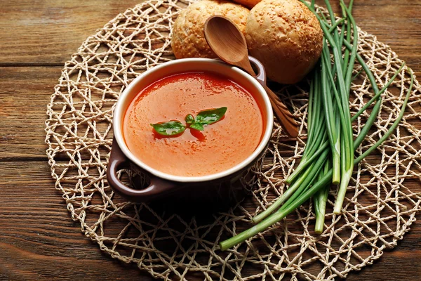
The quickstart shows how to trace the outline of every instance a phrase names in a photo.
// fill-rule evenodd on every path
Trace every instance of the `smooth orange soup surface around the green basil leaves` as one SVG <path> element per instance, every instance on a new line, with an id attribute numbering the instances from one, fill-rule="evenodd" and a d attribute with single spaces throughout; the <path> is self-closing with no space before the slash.
<path id="1" fill-rule="evenodd" d="M 220 121 L 203 131 L 187 128 L 163 137 L 150 124 L 194 117 L 227 107 Z M 212 72 L 175 74 L 140 91 L 128 107 L 123 136 L 142 162 L 175 176 L 206 176 L 239 164 L 258 147 L 263 121 L 253 95 L 234 81 Z"/>

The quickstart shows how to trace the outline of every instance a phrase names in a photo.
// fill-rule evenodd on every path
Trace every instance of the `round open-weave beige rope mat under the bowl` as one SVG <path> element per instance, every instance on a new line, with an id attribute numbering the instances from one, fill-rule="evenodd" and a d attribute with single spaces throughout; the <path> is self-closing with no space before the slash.
<path id="1" fill-rule="evenodd" d="M 332 188 L 321 235 L 314 234 L 309 202 L 251 241 L 225 252 L 217 246 L 250 227 L 250 218 L 285 190 L 283 179 L 298 164 L 305 146 L 308 82 L 279 89 L 302 124 L 300 138 L 288 140 L 275 125 L 252 195 L 232 209 L 186 218 L 126 202 L 112 192 L 105 171 L 114 105 L 141 72 L 173 59 L 171 27 L 187 4 L 148 0 L 129 8 L 86 39 L 65 63 L 48 105 L 47 155 L 55 188 L 81 231 L 112 257 L 166 280 L 332 280 L 361 270 L 395 247 L 421 209 L 420 193 L 406 188 L 421 183 L 417 81 L 399 127 L 354 170 L 342 216 L 332 214 Z M 359 53 L 381 87 L 403 62 L 374 36 L 361 31 L 359 36 Z M 360 67 L 357 64 L 354 71 Z M 381 116 L 357 154 L 375 143 L 399 115 L 408 77 L 404 68 L 385 92 Z M 352 113 L 373 96 L 370 90 L 362 72 L 352 84 Z M 354 122 L 355 134 L 367 117 L 364 113 Z"/>

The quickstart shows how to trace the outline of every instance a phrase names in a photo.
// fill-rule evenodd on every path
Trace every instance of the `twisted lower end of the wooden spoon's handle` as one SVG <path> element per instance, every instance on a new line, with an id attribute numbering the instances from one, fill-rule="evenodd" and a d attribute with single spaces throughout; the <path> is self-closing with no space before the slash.
<path id="1" fill-rule="evenodd" d="M 268 86 L 265 86 L 265 90 L 274 109 L 276 119 L 278 119 L 278 122 L 281 123 L 282 128 L 288 136 L 296 138 L 298 136 L 298 125 L 297 122 L 295 122 L 293 115 L 286 105 L 282 103 L 276 93 L 269 89 Z"/>

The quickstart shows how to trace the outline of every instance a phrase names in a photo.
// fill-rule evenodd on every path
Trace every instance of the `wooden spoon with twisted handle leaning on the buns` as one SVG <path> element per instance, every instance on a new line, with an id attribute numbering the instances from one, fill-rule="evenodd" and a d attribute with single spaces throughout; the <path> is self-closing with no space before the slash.
<path id="1" fill-rule="evenodd" d="M 241 67 L 248 74 L 255 76 L 250 60 L 248 60 L 246 39 L 234 22 L 222 15 L 213 15 L 206 20 L 203 31 L 205 32 L 208 45 L 221 60 L 230 65 Z M 271 101 L 276 119 L 278 119 L 288 136 L 296 138 L 298 136 L 298 125 L 293 115 L 279 97 L 276 96 L 276 93 L 266 85 L 264 87 Z"/>

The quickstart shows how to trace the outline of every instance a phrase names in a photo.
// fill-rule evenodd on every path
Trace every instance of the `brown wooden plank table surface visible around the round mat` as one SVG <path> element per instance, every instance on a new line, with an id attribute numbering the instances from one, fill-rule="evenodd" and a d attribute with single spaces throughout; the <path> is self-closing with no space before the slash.
<path id="1" fill-rule="evenodd" d="M 151 279 L 81 234 L 54 188 L 44 145 L 46 105 L 65 61 L 88 35 L 139 1 L 0 3 L 0 280 Z M 339 11 L 339 1 L 331 2 Z M 421 77 L 421 0 L 355 0 L 354 16 Z M 421 280 L 421 223 L 347 280 L 401 279 Z"/>

